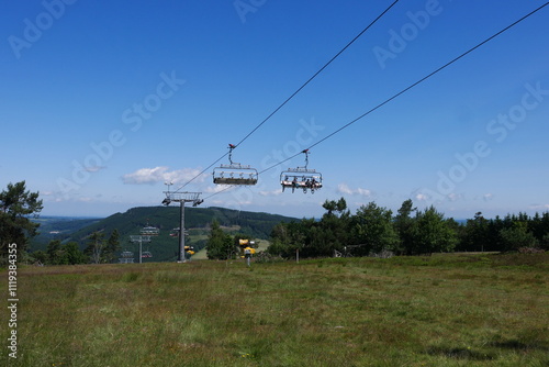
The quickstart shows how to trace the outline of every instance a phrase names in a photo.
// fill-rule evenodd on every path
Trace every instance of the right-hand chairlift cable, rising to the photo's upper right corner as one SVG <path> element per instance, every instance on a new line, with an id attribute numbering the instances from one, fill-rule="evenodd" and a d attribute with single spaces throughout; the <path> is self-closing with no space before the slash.
<path id="1" fill-rule="evenodd" d="M 437 68 L 436 70 L 429 73 L 427 76 L 423 77 L 422 79 L 415 81 L 414 84 L 410 85 L 408 87 L 404 88 L 403 90 L 401 90 L 400 92 L 393 94 L 392 97 L 388 98 L 386 100 L 384 100 L 383 102 L 379 103 L 378 105 L 373 107 L 372 109 L 370 109 L 369 111 L 362 113 L 361 115 L 359 115 L 358 118 L 356 118 L 355 120 L 348 122 L 347 124 L 343 125 L 341 127 L 337 129 L 336 131 L 334 131 L 333 133 L 326 135 L 325 137 L 321 138 L 318 142 L 312 144 L 311 146 L 309 146 L 305 151 L 309 151 L 311 149 L 312 147 L 325 142 L 326 140 L 330 138 L 332 136 L 336 135 L 337 133 L 341 132 L 344 129 L 347 129 L 348 126 L 352 125 L 355 122 L 366 118 L 368 114 L 372 113 L 373 111 L 380 109 L 381 107 L 385 105 L 386 103 L 391 102 L 392 100 L 396 99 L 397 97 L 404 94 L 405 92 L 407 92 L 408 90 L 411 90 L 412 88 L 418 86 L 419 84 L 422 84 L 423 81 L 427 80 L 428 78 L 433 77 L 434 75 L 438 74 L 439 71 L 441 71 L 442 69 L 447 68 L 448 66 L 452 65 L 453 63 L 456 63 L 457 60 L 461 59 L 462 57 L 464 57 L 466 55 L 472 53 L 473 51 L 475 51 L 477 48 L 483 46 L 484 44 L 486 44 L 488 42 L 492 41 L 493 38 L 497 37 L 498 35 L 501 35 L 502 33 L 508 31 L 509 29 L 512 29 L 513 26 L 517 25 L 518 23 L 520 23 L 522 21 L 526 20 L 527 18 L 529 18 L 530 15 L 534 15 L 536 12 L 540 11 L 541 9 L 544 9 L 545 7 L 547 7 L 549 4 L 549 1 L 544 3 L 542 5 L 538 7 L 537 9 L 533 10 L 531 12 L 527 13 L 526 15 L 522 16 L 520 19 L 518 19 L 517 21 L 513 22 L 512 24 L 507 25 L 506 27 L 504 27 L 503 30 L 494 33 L 493 35 L 491 35 L 490 37 L 485 38 L 484 41 L 482 41 L 481 43 L 477 44 L 475 46 L 469 48 L 467 52 L 462 53 L 461 55 L 455 57 L 453 59 L 451 59 L 450 62 L 446 63 L 445 65 L 440 66 L 439 68 Z M 290 159 L 293 159 L 295 158 L 296 156 L 299 156 L 300 154 L 302 154 L 302 152 L 299 152 L 283 160 L 280 160 L 276 164 L 273 164 L 272 166 L 270 167 L 267 167 L 265 168 L 264 170 L 259 171 L 258 174 L 264 174 L 277 166 L 280 166 L 282 165 L 283 163 L 290 160 Z M 211 198 L 217 193 L 221 193 L 221 192 L 224 192 L 226 191 L 225 190 L 221 190 L 221 191 L 217 191 L 213 194 L 211 194 L 210 197 L 208 198 Z"/>

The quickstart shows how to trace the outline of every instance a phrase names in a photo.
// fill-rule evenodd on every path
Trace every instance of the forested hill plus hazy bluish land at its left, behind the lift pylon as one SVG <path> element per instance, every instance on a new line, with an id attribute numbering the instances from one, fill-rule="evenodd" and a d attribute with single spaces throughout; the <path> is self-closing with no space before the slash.
<path id="1" fill-rule="evenodd" d="M 59 219 L 44 218 L 38 220 L 41 235 L 33 240 L 31 248 L 45 249 L 52 240 L 63 243 L 75 241 L 80 248 L 85 248 L 87 237 L 93 232 L 103 232 L 105 237 L 117 230 L 122 251 L 137 251 L 136 245 L 130 242 L 130 235 L 138 235 L 145 226 L 160 230 L 158 236 L 145 249 L 154 255 L 148 262 L 172 260 L 177 256 L 179 238 L 170 236 L 170 231 L 179 227 L 179 207 L 137 207 L 124 213 L 115 213 L 104 219 Z M 210 224 L 216 220 L 228 233 L 244 233 L 255 238 L 267 240 L 274 225 L 280 222 L 299 221 L 295 218 L 269 214 L 264 212 L 248 212 L 233 209 L 186 208 L 184 222 L 189 232 L 187 243 L 198 248 L 205 246 L 210 234 Z"/>

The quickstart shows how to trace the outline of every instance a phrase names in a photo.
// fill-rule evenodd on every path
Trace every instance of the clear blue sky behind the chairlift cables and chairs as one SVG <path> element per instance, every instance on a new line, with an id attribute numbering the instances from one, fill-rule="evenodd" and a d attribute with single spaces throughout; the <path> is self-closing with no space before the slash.
<path id="1" fill-rule="evenodd" d="M 392 1 L 11 1 L 0 13 L 0 186 L 43 214 L 157 205 L 227 153 Z M 400 1 L 245 140 L 259 171 L 294 155 L 545 1 Z M 549 7 L 311 149 L 314 194 L 281 169 L 204 205 L 320 216 L 406 199 L 446 216 L 549 210 Z M 228 163 L 225 157 L 220 164 Z"/>

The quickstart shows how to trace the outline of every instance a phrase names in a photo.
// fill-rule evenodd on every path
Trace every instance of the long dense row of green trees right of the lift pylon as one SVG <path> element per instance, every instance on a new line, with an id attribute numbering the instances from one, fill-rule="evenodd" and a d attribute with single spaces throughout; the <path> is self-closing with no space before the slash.
<path id="1" fill-rule="evenodd" d="M 549 249 L 549 212 L 490 220 L 478 212 L 459 223 L 433 205 L 418 210 L 410 199 L 394 215 L 374 202 L 351 214 L 344 198 L 326 200 L 323 208 L 326 212 L 320 220 L 276 225 L 268 253 L 290 258 L 296 252 L 300 257 L 327 257 Z"/>

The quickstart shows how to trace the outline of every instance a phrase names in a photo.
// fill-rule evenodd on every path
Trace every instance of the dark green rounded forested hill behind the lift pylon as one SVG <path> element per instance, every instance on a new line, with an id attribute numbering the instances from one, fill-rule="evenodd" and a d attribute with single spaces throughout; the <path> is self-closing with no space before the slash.
<path id="1" fill-rule="evenodd" d="M 155 237 L 158 245 L 166 243 L 177 243 L 177 238 L 170 237 L 172 229 L 179 227 L 180 208 L 177 207 L 139 207 L 132 208 L 124 213 L 116 213 L 105 219 L 90 221 L 89 225 L 76 229 L 74 232 L 60 231 L 55 240 L 63 243 L 76 241 L 83 248 L 87 237 L 97 231 L 109 236 L 112 231 L 117 230 L 121 243 L 124 244 L 130 235 L 139 234 L 139 231 L 147 226 L 155 226 L 160 230 L 160 235 Z M 229 233 L 244 233 L 256 238 L 268 238 L 272 227 L 280 222 L 298 221 L 294 218 L 238 211 L 225 208 L 192 208 L 184 210 L 186 230 L 189 230 L 190 240 L 203 240 L 209 233 L 209 226 L 216 220 Z M 48 231 L 55 231 L 55 225 L 51 224 Z M 40 231 L 40 229 L 38 229 Z M 38 238 L 37 238 L 38 240 Z M 48 238 L 54 240 L 54 238 Z M 45 249 L 45 243 L 36 242 L 33 249 Z"/>

